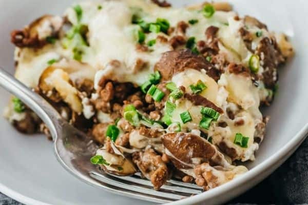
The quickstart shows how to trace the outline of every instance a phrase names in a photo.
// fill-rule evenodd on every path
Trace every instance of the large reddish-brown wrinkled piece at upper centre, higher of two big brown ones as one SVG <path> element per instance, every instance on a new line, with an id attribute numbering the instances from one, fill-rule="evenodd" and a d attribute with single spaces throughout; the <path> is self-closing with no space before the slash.
<path id="1" fill-rule="evenodd" d="M 207 71 L 211 67 L 211 64 L 204 57 L 185 49 L 163 53 L 161 59 L 155 65 L 155 70 L 161 73 L 162 80 L 169 80 L 174 74 L 185 69 L 205 69 Z"/>

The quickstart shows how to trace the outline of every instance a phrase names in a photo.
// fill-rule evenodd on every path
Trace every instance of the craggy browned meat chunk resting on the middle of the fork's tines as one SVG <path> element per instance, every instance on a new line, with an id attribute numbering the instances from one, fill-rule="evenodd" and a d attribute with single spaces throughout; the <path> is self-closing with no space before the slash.
<path id="1" fill-rule="evenodd" d="M 142 174 L 151 180 L 154 189 L 159 190 L 168 179 L 168 169 L 162 157 L 152 149 L 144 152 L 135 152 L 132 155 L 133 162 L 138 166 Z"/>

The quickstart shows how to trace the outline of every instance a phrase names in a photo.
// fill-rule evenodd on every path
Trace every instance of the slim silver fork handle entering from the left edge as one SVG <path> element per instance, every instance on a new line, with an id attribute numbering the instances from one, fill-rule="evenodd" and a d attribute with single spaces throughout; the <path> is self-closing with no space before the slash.
<path id="1" fill-rule="evenodd" d="M 51 136 L 56 136 L 55 126 L 59 125 L 62 117 L 42 96 L 30 90 L 3 68 L 0 68 L 0 86 L 20 98 L 45 122 Z"/>

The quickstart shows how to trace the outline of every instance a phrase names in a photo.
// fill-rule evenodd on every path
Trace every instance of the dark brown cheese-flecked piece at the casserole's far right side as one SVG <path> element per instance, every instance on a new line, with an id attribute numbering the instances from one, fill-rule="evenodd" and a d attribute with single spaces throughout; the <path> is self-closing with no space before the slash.
<path id="1" fill-rule="evenodd" d="M 259 43 L 256 54 L 260 56 L 263 82 L 266 88 L 273 89 L 278 80 L 277 66 L 284 62 L 284 58 L 273 39 L 265 37 Z"/>

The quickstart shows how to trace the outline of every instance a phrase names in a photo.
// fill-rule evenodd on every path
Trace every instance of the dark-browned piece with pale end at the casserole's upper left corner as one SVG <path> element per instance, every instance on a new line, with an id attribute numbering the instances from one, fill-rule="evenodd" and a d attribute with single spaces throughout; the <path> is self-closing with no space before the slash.
<path id="1" fill-rule="evenodd" d="M 38 29 L 46 27 L 46 22 L 50 28 L 48 36 L 40 36 Z M 11 42 L 17 47 L 42 48 L 48 43 L 46 37 L 57 37 L 63 25 L 63 19 L 57 16 L 44 15 L 26 26 L 23 30 L 11 32 Z M 45 35 L 45 34 L 44 34 Z"/>

